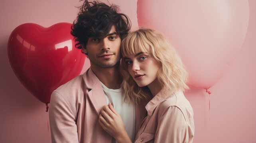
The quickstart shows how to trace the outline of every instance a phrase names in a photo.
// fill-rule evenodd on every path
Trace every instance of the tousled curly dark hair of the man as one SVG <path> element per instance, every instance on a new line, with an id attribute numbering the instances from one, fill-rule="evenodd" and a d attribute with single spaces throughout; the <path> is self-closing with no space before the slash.
<path id="1" fill-rule="evenodd" d="M 71 27 L 71 35 L 77 41 L 77 48 L 86 48 L 89 37 L 106 37 L 114 25 L 116 33 L 120 39 L 124 39 L 130 31 L 130 19 L 125 15 L 118 13 L 116 5 L 106 5 L 104 3 L 85 0 L 77 20 Z"/>

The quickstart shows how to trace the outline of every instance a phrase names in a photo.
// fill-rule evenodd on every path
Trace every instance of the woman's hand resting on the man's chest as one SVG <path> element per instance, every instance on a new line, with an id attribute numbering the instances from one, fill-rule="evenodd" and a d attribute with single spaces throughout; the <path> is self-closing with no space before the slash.
<path id="1" fill-rule="evenodd" d="M 116 139 L 118 143 L 131 143 L 127 132 L 125 131 L 124 122 L 121 116 L 110 104 L 103 106 L 99 116 L 100 126 Z"/>

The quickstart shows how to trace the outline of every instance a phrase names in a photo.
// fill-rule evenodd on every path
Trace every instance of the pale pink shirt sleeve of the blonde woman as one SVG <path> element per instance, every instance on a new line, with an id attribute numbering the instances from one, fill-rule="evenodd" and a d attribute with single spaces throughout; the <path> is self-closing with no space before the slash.
<path id="1" fill-rule="evenodd" d="M 187 123 L 177 106 L 159 112 L 155 143 L 188 143 Z"/>

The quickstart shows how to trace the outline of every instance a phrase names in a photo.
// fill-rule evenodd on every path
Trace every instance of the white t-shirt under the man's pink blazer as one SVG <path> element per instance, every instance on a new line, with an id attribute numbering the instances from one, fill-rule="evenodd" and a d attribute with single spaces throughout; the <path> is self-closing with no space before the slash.
<path id="1" fill-rule="evenodd" d="M 114 109 L 120 114 L 124 122 L 125 130 L 133 142 L 135 138 L 136 120 L 135 105 L 124 102 L 125 93 L 123 89 L 109 89 L 103 83 L 101 83 L 101 85 L 105 93 L 107 104 L 112 103 L 114 105 Z M 113 143 L 117 143 L 115 139 Z"/>

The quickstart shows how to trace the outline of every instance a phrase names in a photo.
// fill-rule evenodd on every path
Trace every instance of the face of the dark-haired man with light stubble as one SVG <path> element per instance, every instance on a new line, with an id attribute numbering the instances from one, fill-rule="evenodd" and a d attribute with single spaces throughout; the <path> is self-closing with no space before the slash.
<path id="1" fill-rule="evenodd" d="M 107 37 L 90 37 L 86 49 L 83 49 L 91 62 L 91 66 L 110 68 L 120 61 L 121 39 L 113 25 Z"/>

